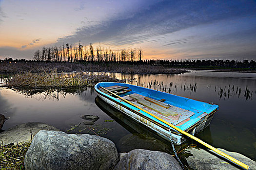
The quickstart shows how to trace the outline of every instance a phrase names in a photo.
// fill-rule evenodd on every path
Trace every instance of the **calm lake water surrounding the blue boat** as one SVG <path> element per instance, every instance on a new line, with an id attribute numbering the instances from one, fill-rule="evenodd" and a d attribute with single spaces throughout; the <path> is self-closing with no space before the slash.
<path id="1" fill-rule="evenodd" d="M 191 70 L 180 75 L 108 74 L 134 80 L 127 81 L 130 84 L 218 104 L 210 126 L 197 137 L 256 160 L 256 73 Z M 114 141 L 119 152 L 136 148 L 172 152 L 169 142 L 109 107 L 93 88 L 30 93 L 0 88 L 0 113 L 10 117 L 3 130 L 24 122 L 43 122 L 68 133 L 97 133 Z M 97 115 L 100 119 L 86 125 L 80 119 L 82 115 Z M 200 146 L 192 140 L 187 143 Z"/>

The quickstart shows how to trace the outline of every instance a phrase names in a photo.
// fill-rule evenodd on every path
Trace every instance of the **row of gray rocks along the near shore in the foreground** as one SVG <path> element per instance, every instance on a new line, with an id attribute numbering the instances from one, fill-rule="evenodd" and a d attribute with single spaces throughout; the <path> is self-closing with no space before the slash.
<path id="1" fill-rule="evenodd" d="M 44 123 L 23 123 L 0 133 L 3 145 L 31 139 L 24 157 L 26 170 L 182 170 L 168 153 L 142 149 L 118 153 L 115 143 L 107 138 L 66 134 Z M 220 150 L 249 165 L 250 170 L 256 170 L 255 161 L 239 153 Z M 188 148 L 184 153 L 187 165 L 194 170 L 242 169 L 209 150 Z"/>

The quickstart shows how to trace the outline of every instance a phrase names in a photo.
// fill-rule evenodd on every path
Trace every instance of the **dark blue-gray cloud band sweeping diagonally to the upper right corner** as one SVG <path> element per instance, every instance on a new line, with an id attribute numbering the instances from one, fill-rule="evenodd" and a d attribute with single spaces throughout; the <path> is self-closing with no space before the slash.
<path id="1" fill-rule="evenodd" d="M 254 1 L 191 1 L 162 0 L 146 9 L 138 10 L 124 19 L 110 19 L 101 23 L 78 28 L 70 36 L 59 38 L 59 42 L 84 43 L 108 42 L 112 45 L 136 44 L 149 38 L 174 33 L 200 24 L 213 23 L 232 17 L 255 14 Z M 186 43 L 175 40 L 165 45 Z"/>

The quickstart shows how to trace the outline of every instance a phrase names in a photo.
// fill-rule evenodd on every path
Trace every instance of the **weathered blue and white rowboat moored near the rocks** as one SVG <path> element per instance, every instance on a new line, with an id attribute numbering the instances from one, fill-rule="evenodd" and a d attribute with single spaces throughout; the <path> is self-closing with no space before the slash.
<path id="1" fill-rule="evenodd" d="M 183 143 L 187 137 L 156 117 L 194 136 L 209 126 L 214 113 L 218 110 L 218 105 L 212 102 L 200 102 L 136 85 L 103 82 L 95 85 L 95 90 L 103 101 L 150 128 L 159 136 L 171 140 L 171 132 L 172 139 L 177 145 Z M 117 98 L 110 91 L 146 112 Z"/>

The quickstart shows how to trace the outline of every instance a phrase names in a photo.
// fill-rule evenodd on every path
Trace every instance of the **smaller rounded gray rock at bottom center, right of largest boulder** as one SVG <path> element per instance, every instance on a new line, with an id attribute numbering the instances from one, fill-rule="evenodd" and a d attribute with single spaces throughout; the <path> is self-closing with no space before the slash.
<path id="1" fill-rule="evenodd" d="M 123 156 L 123 155 L 122 155 Z M 182 170 L 168 153 L 136 149 L 125 154 L 114 170 Z"/>

